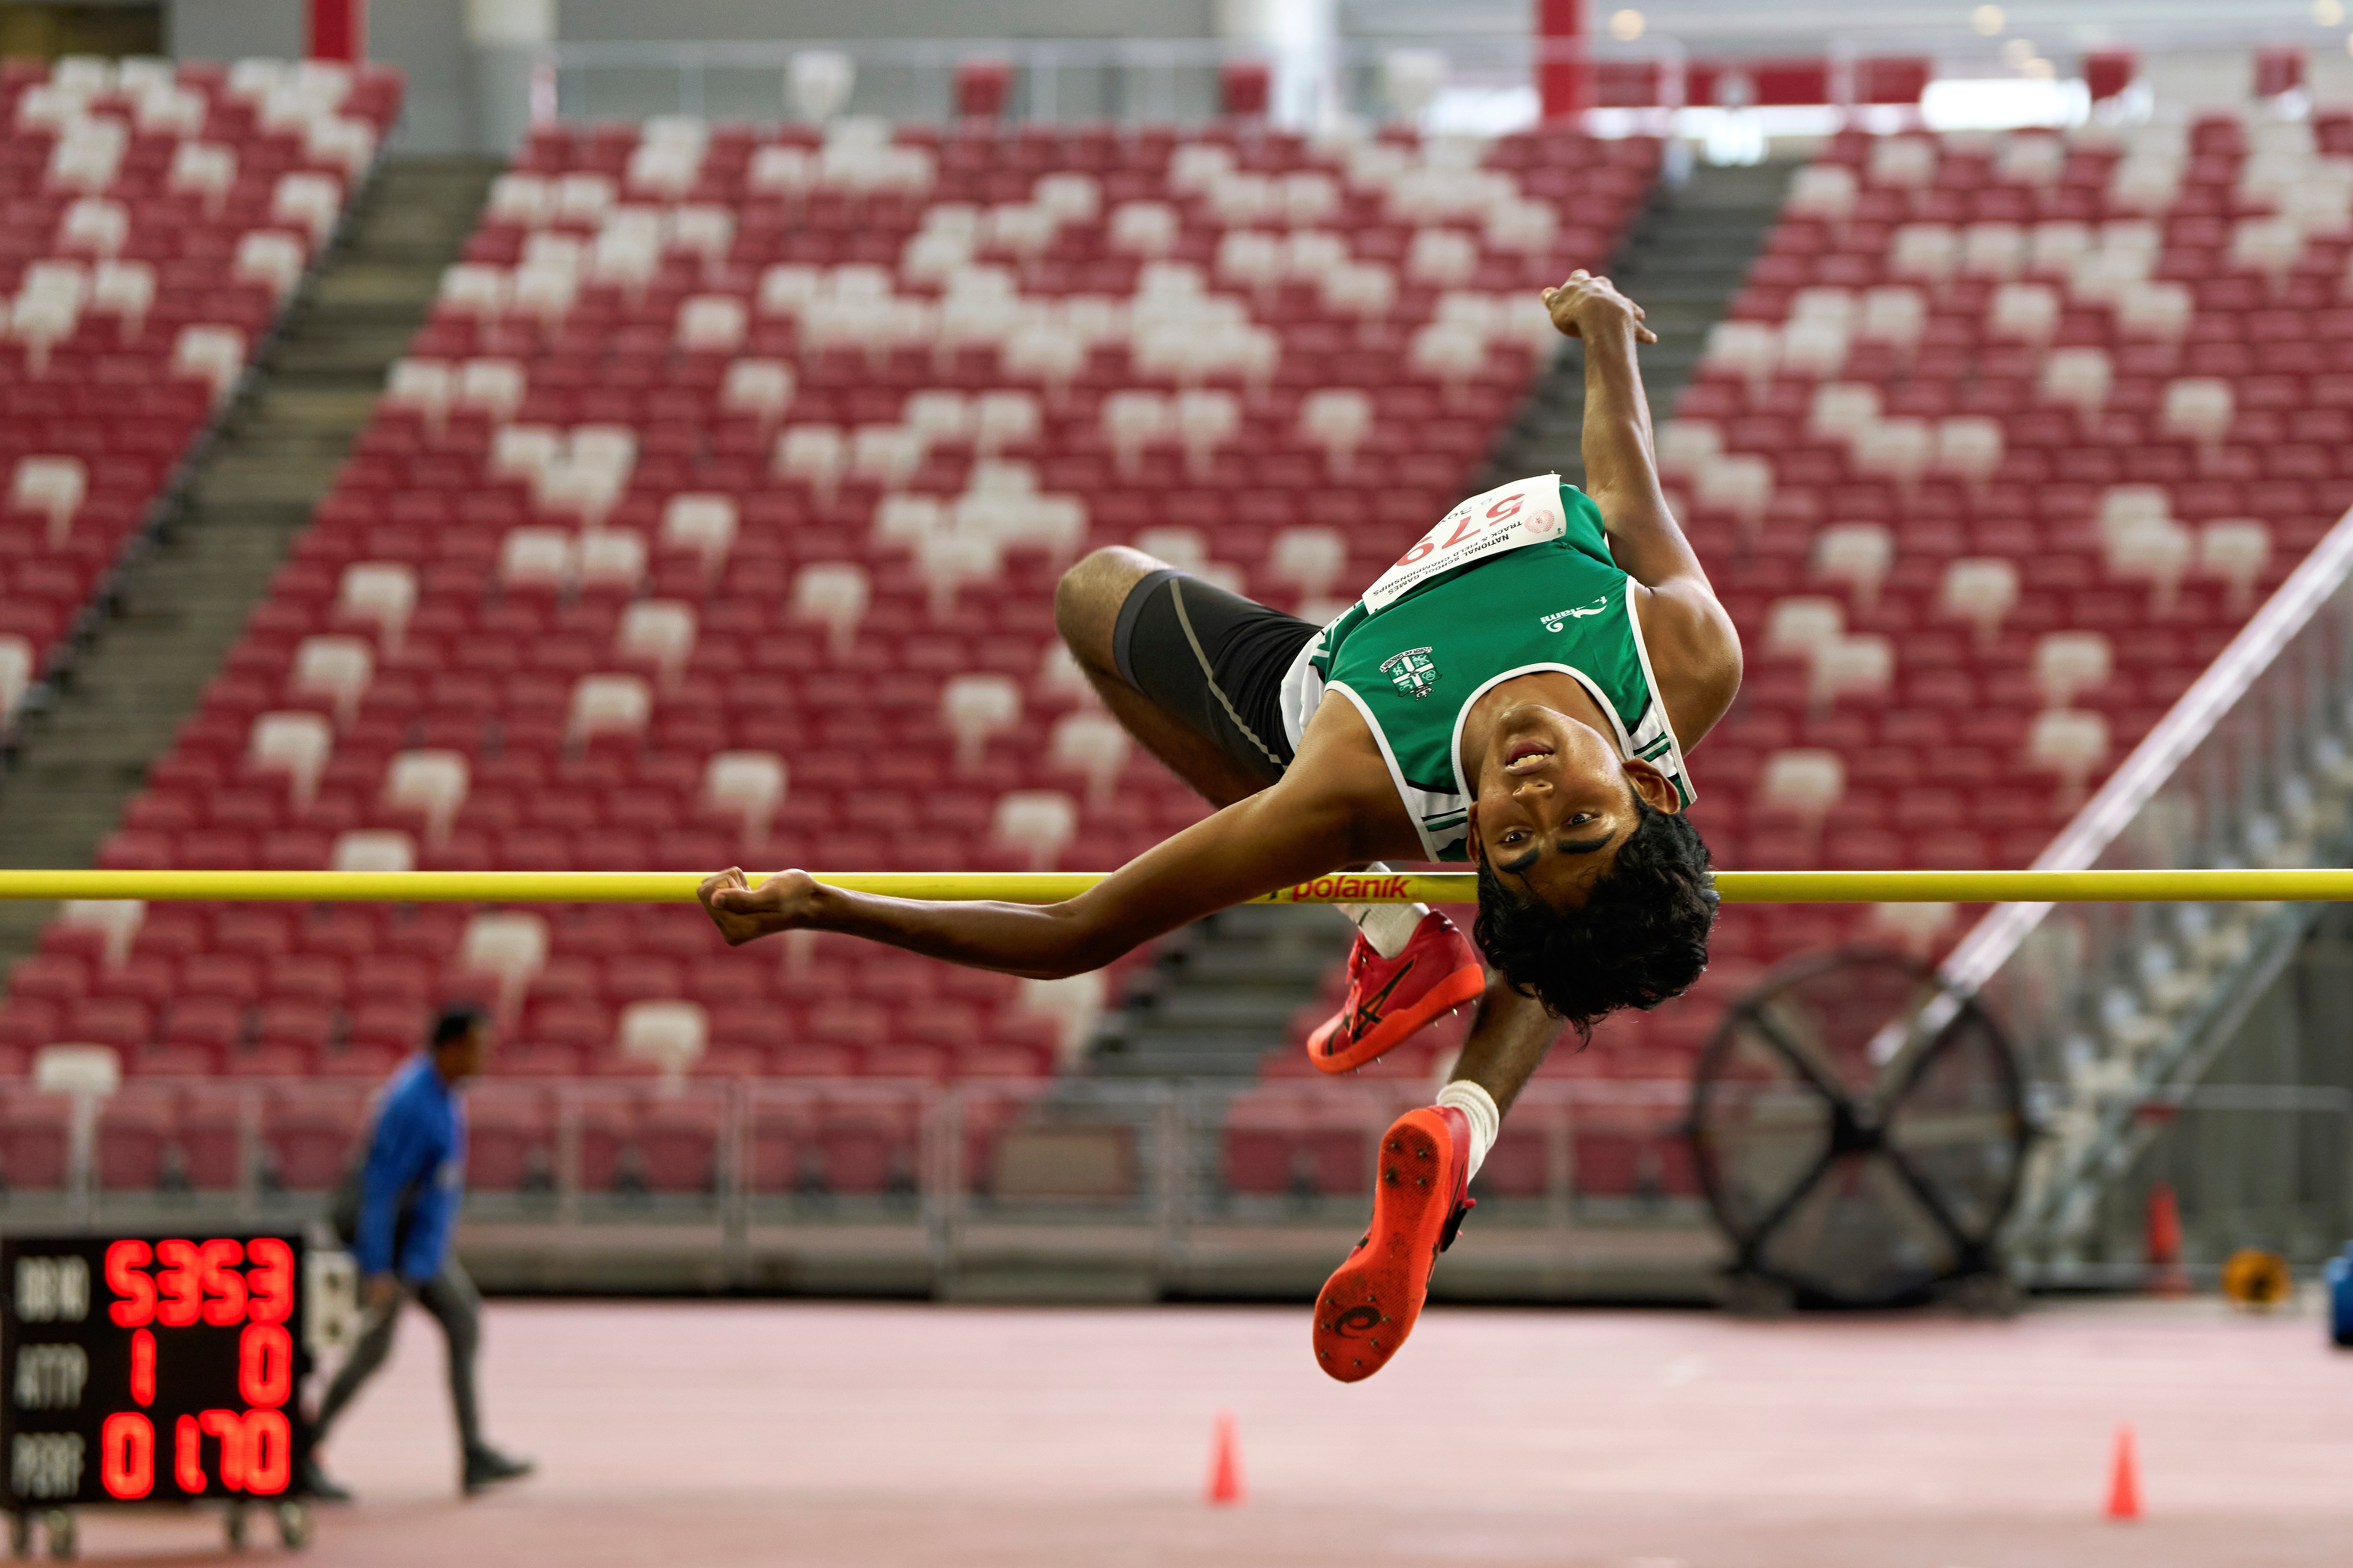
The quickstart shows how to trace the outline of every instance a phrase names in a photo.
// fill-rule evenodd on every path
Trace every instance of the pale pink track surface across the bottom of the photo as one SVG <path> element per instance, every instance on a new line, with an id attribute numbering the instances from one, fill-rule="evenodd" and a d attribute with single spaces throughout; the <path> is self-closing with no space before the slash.
<path id="1" fill-rule="evenodd" d="M 440 1342 L 409 1314 L 351 1413 L 311 1561 L 2344 1563 L 2353 1354 L 2313 1314 L 2092 1305 L 2009 1324 L 1438 1307 L 1379 1378 L 1306 1309 L 809 1302 L 489 1309 L 492 1434 L 541 1474 L 452 1495 Z M 1231 1410 L 1247 1502 L 1202 1505 Z M 2099 1519 L 2118 1422 L 2134 1526 Z M 256 1521 L 259 1523 L 259 1521 Z M 191 1561 L 188 1514 L 87 1556 Z"/>

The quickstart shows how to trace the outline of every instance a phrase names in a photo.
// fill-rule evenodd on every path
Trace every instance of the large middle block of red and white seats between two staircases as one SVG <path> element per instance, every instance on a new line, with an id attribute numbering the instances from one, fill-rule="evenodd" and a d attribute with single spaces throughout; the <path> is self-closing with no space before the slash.
<path id="1" fill-rule="evenodd" d="M 1308 614 L 1478 470 L 1659 148 L 544 127 L 113 867 L 1108 867 L 1202 806 L 1059 651 L 1139 543 Z M 1400 369 L 1402 367 L 1402 369 Z M 0 1048 L 367 1077 L 1042 1077 L 1101 985 L 678 910 L 104 912 Z"/>

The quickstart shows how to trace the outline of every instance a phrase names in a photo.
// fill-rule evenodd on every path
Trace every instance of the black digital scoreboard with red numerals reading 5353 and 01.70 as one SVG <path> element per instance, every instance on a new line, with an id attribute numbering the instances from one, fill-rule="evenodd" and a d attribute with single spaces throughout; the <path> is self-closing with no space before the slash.
<path id="1" fill-rule="evenodd" d="M 296 1490 L 301 1237 L 5 1237 L 0 1295 L 9 1507 Z"/>

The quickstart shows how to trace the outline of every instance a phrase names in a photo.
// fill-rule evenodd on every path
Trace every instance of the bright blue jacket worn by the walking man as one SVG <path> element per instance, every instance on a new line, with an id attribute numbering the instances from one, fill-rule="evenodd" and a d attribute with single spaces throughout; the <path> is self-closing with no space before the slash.
<path id="1" fill-rule="evenodd" d="M 386 1084 L 369 1128 L 360 1234 L 351 1246 L 360 1274 L 398 1269 L 409 1284 L 440 1274 L 464 1194 L 466 1107 L 433 1070 L 433 1056 L 419 1053 Z"/>

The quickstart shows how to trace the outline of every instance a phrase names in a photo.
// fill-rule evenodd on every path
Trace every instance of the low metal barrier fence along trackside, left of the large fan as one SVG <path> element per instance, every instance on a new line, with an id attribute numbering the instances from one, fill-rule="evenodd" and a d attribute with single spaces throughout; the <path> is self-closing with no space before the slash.
<path id="1" fill-rule="evenodd" d="M 0 1225 L 304 1222 L 365 1081 L 0 1088 Z M 489 1079 L 459 1246 L 494 1288 L 1313 1291 L 1419 1081 Z M 1449 1262 L 1466 1295 L 1680 1295 L 1718 1244 L 1678 1081 L 1534 1084 Z M 1042 1284 L 1040 1284 L 1042 1281 Z"/>

